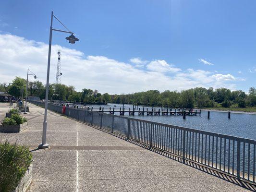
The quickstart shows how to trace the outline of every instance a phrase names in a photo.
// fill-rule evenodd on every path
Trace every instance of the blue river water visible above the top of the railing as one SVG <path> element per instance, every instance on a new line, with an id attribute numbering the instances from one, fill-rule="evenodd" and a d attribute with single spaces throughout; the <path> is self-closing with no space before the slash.
<path id="1" fill-rule="evenodd" d="M 100 107 L 99 105 L 88 106 Z M 108 104 L 101 107 L 105 109 L 114 107 L 115 110 L 119 110 L 122 105 Z M 125 104 L 124 107 L 132 110 L 133 105 Z M 141 110 L 142 107 L 139 106 Z M 151 108 L 148 107 L 148 110 L 151 110 Z M 128 113 L 125 115 L 129 116 Z M 231 113 L 231 119 L 228 119 L 227 112 L 211 111 L 209 120 L 207 119 L 207 111 L 202 111 L 201 116 L 186 116 L 186 120 L 183 120 L 182 116 L 138 116 L 137 113 L 130 117 L 256 140 L 256 115 L 254 114 Z"/>

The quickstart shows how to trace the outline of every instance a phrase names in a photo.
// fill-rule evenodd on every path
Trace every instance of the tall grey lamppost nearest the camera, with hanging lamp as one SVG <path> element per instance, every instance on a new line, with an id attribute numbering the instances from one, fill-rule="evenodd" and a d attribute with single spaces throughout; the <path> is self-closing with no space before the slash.
<path id="1" fill-rule="evenodd" d="M 47 131 L 47 108 L 48 108 L 48 93 L 49 93 L 49 72 L 50 72 L 50 52 L 51 52 L 51 37 L 52 37 L 52 31 L 59 31 L 63 33 L 69 33 L 70 36 L 66 37 L 66 39 L 69 41 L 69 43 L 74 44 L 79 39 L 76 38 L 73 35 L 73 32 L 71 32 L 64 24 L 62 24 L 68 31 L 62 31 L 59 29 L 53 29 L 52 28 L 52 19 L 55 17 L 60 23 L 61 21 L 51 12 L 51 22 L 50 22 L 50 35 L 49 35 L 49 52 L 48 52 L 48 65 L 47 65 L 47 78 L 46 78 L 46 92 L 45 92 L 45 115 L 44 115 L 44 123 L 43 123 L 43 137 L 42 137 L 42 143 L 39 144 L 38 148 L 48 148 L 49 144 L 46 143 L 46 131 Z"/>

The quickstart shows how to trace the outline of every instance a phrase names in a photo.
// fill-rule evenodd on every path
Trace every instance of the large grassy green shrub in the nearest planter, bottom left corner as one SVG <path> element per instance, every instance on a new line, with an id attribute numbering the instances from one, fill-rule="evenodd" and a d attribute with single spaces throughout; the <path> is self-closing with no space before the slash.
<path id="1" fill-rule="evenodd" d="M 0 192 L 14 190 L 32 162 L 29 148 L 7 141 L 0 143 Z"/>

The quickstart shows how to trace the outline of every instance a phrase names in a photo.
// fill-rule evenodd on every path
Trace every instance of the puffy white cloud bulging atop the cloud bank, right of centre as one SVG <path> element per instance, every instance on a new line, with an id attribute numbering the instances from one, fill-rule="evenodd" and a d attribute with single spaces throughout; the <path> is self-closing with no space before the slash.
<path id="1" fill-rule="evenodd" d="M 168 64 L 165 60 L 153 60 L 147 64 L 146 68 L 155 72 L 179 72 L 181 69 Z"/>

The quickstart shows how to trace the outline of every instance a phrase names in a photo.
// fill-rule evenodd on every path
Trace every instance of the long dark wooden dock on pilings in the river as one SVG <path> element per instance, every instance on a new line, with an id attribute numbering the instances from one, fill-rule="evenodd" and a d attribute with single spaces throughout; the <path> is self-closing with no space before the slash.
<path id="1" fill-rule="evenodd" d="M 91 111 L 97 111 L 97 112 L 101 112 L 101 113 L 109 113 L 114 115 L 119 114 L 119 115 L 124 115 L 125 113 L 129 113 L 129 115 L 134 116 L 135 114 L 137 115 L 148 115 L 148 116 L 168 116 L 168 115 L 188 115 L 188 116 L 201 116 L 201 109 L 197 110 L 197 109 L 181 109 L 181 108 L 175 108 L 175 109 L 160 109 L 158 108 L 156 110 L 156 108 L 138 108 L 135 110 L 135 108 L 129 108 L 129 109 L 125 109 L 125 108 L 119 108 L 119 109 L 115 109 L 115 108 L 108 108 L 108 109 L 104 109 L 104 108 L 86 108 L 86 110 L 91 110 Z"/>

